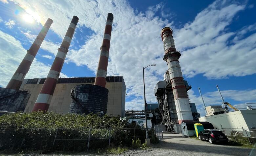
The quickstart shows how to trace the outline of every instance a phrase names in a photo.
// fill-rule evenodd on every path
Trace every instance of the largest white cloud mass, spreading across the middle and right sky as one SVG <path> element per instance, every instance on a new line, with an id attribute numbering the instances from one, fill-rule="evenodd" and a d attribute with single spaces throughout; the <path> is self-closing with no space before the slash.
<path id="1" fill-rule="evenodd" d="M 240 37 L 229 32 L 235 15 L 244 10 L 245 4 L 232 1 L 216 1 L 197 14 L 192 22 L 176 29 L 171 21 L 154 16 L 158 5 L 144 13 L 135 13 L 126 1 L 50 1 L 19 0 L 22 8 L 30 8 L 41 15 L 45 22 L 53 19 L 51 29 L 63 38 L 73 15 L 79 17 L 78 29 L 87 27 L 94 31 L 80 49 L 70 49 L 67 60 L 76 65 L 86 65 L 96 72 L 106 16 L 114 14 L 111 36 L 108 75 L 124 76 L 128 97 L 135 96 L 127 108 L 142 108 L 142 67 L 157 64 L 145 70 L 146 99 L 155 101 L 153 89 L 167 69 L 162 60 L 163 43 L 160 30 L 169 26 L 174 29 L 176 47 L 182 52 L 182 72 L 187 77 L 202 73 L 207 78 L 226 78 L 256 73 L 256 34 Z M 154 15 L 153 15 L 154 14 Z M 43 23 L 42 23 L 43 24 Z M 79 31 L 76 30 L 76 33 Z M 44 47 L 44 46 L 43 46 Z M 43 48 L 42 47 L 42 48 Z M 49 47 L 49 45 L 46 45 Z M 45 48 L 46 49 L 46 48 Z M 55 48 L 52 53 L 55 53 Z M 241 57 L 243 56 L 243 57 Z M 246 63 L 245 63 L 246 62 Z"/>

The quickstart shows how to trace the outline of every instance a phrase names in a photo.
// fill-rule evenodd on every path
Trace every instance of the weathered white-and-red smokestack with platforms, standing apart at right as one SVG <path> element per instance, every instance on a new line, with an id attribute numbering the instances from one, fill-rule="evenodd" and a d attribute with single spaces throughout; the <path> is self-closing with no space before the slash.
<path id="1" fill-rule="evenodd" d="M 168 65 L 174 102 L 177 110 L 179 124 L 181 124 L 182 121 L 193 121 L 193 116 L 191 113 L 191 108 L 189 105 L 187 91 L 183 81 L 179 62 L 181 53 L 176 51 L 172 33 L 173 31 L 169 27 L 165 27 L 161 31 L 164 48 L 163 60 L 166 61 Z"/>

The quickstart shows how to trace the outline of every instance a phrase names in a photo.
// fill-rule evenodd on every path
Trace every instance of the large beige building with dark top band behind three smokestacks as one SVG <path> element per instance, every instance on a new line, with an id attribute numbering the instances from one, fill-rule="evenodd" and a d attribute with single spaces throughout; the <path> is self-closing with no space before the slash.
<path id="1" fill-rule="evenodd" d="M 31 112 L 39 92 L 45 82 L 42 79 L 25 79 L 22 88 L 30 90 L 31 96 L 25 112 Z M 77 85 L 93 85 L 95 77 L 59 78 L 48 111 L 66 114 L 72 102 L 71 90 Z M 122 76 L 108 76 L 106 88 L 109 90 L 107 114 L 110 116 L 124 116 L 125 110 L 125 83 Z"/>

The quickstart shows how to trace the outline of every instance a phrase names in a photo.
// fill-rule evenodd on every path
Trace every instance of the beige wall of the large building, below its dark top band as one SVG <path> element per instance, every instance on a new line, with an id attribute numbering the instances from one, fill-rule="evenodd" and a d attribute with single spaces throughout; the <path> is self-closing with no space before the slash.
<path id="1" fill-rule="evenodd" d="M 25 81 L 26 82 L 26 81 Z M 53 111 L 61 114 L 66 114 L 69 111 L 71 104 L 70 92 L 76 85 L 93 84 L 93 83 L 58 83 L 56 85 L 53 98 L 48 111 Z M 31 112 L 35 104 L 37 96 L 43 84 L 23 84 L 22 88 L 29 89 L 31 97 L 28 101 L 25 112 Z M 109 90 L 107 114 L 111 116 L 123 116 L 125 110 L 125 83 L 122 82 L 107 82 L 106 88 Z"/>

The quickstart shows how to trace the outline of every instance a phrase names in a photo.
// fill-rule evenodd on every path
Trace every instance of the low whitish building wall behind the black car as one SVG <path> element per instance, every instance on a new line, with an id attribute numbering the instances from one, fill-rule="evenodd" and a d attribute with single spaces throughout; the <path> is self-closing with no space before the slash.
<path id="1" fill-rule="evenodd" d="M 256 126 L 256 110 L 239 110 L 224 114 L 211 115 L 199 118 L 199 121 L 207 121 L 215 129 L 223 128 L 253 128 Z"/>

